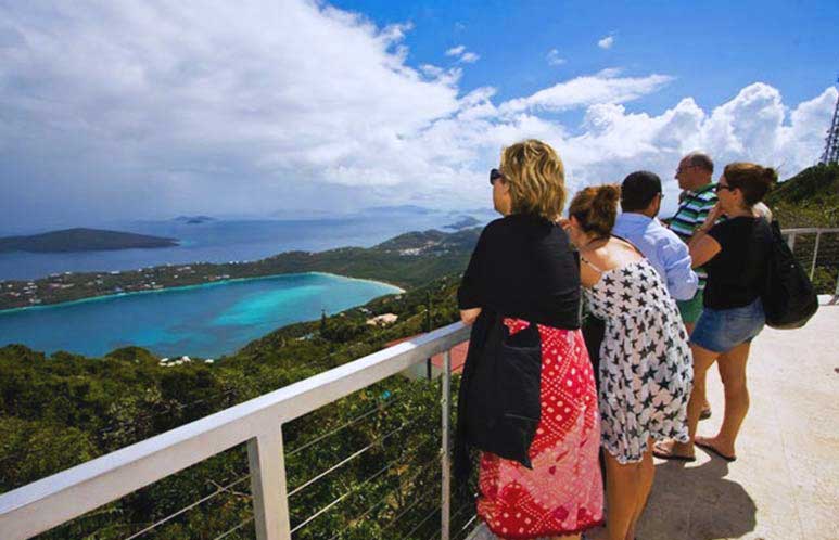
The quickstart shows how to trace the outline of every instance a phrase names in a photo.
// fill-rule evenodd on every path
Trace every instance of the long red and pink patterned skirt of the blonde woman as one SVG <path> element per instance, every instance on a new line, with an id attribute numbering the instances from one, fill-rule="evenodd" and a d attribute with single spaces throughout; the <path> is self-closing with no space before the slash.
<path id="1" fill-rule="evenodd" d="M 511 333 L 527 327 L 505 319 Z M 478 515 L 505 539 L 572 535 L 602 523 L 600 422 L 588 351 L 579 331 L 538 325 L 542 419 L 530 448 L 533 468 L 481 455 Z"/>

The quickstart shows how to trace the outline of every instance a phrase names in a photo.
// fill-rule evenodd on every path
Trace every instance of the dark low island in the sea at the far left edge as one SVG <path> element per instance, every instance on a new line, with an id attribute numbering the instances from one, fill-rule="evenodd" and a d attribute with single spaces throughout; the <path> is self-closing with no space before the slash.
<path id="1" fill-rule="evenodd" d="M 30 236 L 0 237 L 0 253 L 71 253 L 177 246 L 175 239 L 100 229 L 65 229 Z"/>

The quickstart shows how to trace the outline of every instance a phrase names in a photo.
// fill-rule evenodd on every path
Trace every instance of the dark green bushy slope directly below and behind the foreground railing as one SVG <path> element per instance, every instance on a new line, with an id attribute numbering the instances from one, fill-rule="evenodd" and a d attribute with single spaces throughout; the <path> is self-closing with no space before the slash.
<path id="1" fill-rule="evenodd" d="M 213 364 L 163 367 L 137 347 L 104 358 L 0 348 L 0 492 L 358 359 L 427 324 L 454 322 L 458 282 L 443 277 L 322 322 L 279 329 Z M 381 313 L 398 320 L 366 324 Z M 369 447 L 291 498 L 294 527 L 346 494 L 295 538 L 328 539 L 339 530 L 359 540 L 433 533 L 438 520 L 423 519 L 438 507 L 440 390 L 438 381 L 397 375 L 283 426 L 291 490 Z M 240 446 L 38 538 L 124 539 L 208 496 L 149 537 L 215 538 L 251 515 L 246 475 Z M 456 498 L 453 507 L 468 502 Z M 470 516 L 461 512 L 453 527 Z M 253 531 L 249 524 L 226 538 L 253 538 Z"/>

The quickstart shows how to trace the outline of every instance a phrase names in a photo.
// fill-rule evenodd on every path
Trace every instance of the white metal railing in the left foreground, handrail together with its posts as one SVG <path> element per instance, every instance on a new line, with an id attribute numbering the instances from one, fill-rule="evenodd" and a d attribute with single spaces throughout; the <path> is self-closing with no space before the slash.
<path id="1" fill-rule="evenodd" d="M 440 522 L 448 540 L 449 350 L 468 338 L 468 326 L 449 324 L 9 491 L 0 496 L 0 538 L 30 538 L 246 442 L 256 538 L 289 540 L 282 425 L 442 352 Z"/>

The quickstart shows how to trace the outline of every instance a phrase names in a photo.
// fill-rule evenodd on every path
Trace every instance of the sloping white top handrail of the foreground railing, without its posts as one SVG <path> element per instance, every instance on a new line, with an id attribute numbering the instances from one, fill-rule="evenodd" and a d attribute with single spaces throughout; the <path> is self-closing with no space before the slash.
<path id="1" fill-rule="evenodd" d="M 0 494 L 3 538 L 29 538 L 263 436 L 468 339 L 457 322 Z"/>

